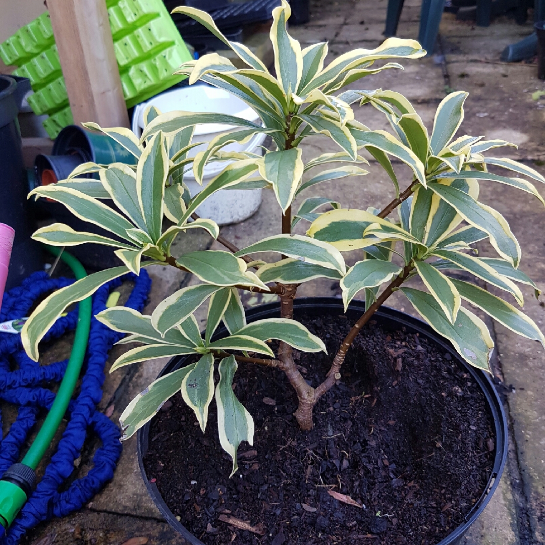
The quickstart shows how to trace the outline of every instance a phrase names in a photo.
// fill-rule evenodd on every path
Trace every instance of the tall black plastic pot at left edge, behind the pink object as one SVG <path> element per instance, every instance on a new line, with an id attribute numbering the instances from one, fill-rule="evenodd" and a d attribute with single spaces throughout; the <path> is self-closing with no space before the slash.
<path id="1" fill-rule="evenodd" d="M 27 208 L 27 183 L 17 124 L 17 82 L 0 76 L 0 222 L 15 229 L 15 240 L 5 289 L 41 268 L 41 249 L 30 235 L 34 222 Z"/>

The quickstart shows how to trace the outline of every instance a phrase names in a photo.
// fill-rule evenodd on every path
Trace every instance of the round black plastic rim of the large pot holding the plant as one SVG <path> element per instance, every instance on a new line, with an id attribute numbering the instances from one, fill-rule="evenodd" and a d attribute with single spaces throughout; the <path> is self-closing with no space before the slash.
<path id="1" fill-rule="evenodd" d="M 295 299 L 294 301 L 295 316 L 298 314 L 310 314 L 311 316 L 323 316 L 324 314 L 343 314 L 343 305 L 340 299 L 334 297 L 309 297 Z M 347 311 L 347 316 L 354 320 L 359 318 L 362 313 L 365 312 L 365 302 L 353 300 Z M 274 318 L 280 316 L 280 303 L 270 303 L 268 305 L 262 305 L 246 312 L 246 318 L 249 322 L 260 320 L 263 318 Z M 435 344 L 438 344 L 446 352 L 450 353 L 454 361 L 458 362 L 458 365 L 464 368 L 464 371 L 471 374 L 479 385 L 481 391 L 485 395 L 486 404 L 490 416 L 494 420 L 494 433 L 496 436 L 495 444 L 495 457 L 494 467 L 492 469 L 492 475 L 487 483 L 485 492 L 481 495 L 481 498 L 473 509 L 465 517 L 464 524 L 458 526 L 451 534 L 441 540 L 438 545 L 458 545 L 462 543 L 462 539 L 465 533 L 468 531 L 469 526 L 475 522 L 480 514 L 485 509 L 488 501 L 492 497 L 494 490 L 498 487 L 502 471 L 504 470 L 505 461 L 507 458 L 507 421 L 505 419 L 505 413 L 500 402 L 500 398 L 496 393 L 494 385 L 490 380 L 487 373 L 471 367 L 464 360 L 460 358 L 456 350 L 452 345 L 441 338 L 433 329 L 422 322 L 419 319 L 413 318 L 408 314 L 394 310 L 393 308 L 382 307 L 376 314 L 374 319 L 382 325 L 386 330 L 395 331 L 402 327 L 407 328 L 407 331 L 412 333 L 419 333 L 420 335 L 431 340 Z M 221 328 L 214 335 L 213 340 L 221 338 L 227 335 L 225 328 Z M 172 358 L 166 367 L 161 371 L 159 377 L 164 376 L 167 373 L 177 370 L 184 365 L 187 360 L 187 356 L 176 356 Z M 158 377 L 158 378 L 159 378 Z M 138 449 L 138 463 L 140 464 L 140 471 L 149 495 L 152 496 L 155 505 L 159 508 L 162 515 L 167 520 L 168 524 L 177 530 L 187 542 L 191 545 L 204 545 L 197 537 L 193 536 L 174 516 L 171 510 L 169 510 L 166 503 L 161 498 L 161 494 L 157 485 L 154 482 L 149 482 L 146 476 L 146 470 L 144 469 L 143 457 L 146 455 L 149 443 L 149 422 L 138 430 L 137 434 L 137 449 Z"/>

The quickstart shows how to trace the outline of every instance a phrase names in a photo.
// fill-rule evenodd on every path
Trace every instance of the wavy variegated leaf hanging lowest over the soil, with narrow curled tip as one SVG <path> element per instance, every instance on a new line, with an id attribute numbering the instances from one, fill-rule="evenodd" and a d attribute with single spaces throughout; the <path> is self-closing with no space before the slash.
<path id="1" fill-rule="evenodd" d="M 220 434 L 220 444 L 233 459 L 232 477 L 238 469 L 237 450 L 243 441 L 253 445 L 254 425 L 250 413 L 234 395 L 233 376 L 237 371 L 237 361 L 234 356 L 220 361 L 220 381 L 216 385 L 217 431 Z"/>

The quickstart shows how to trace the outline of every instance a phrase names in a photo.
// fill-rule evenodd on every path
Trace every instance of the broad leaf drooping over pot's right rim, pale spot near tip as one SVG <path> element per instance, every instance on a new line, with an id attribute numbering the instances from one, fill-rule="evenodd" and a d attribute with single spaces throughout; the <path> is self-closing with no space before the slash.
<path id="1" fill-rule="evenodd" d="M 440 335 L 446 337 L 459 355 L 470 365 L 490 372 L 490 357 L 494 342 L 485 323 L 460 307 L 456 322 L 451 324 L 438 302 L 429 293 L 413 288 L 399 288 L 415 310 Z"/>

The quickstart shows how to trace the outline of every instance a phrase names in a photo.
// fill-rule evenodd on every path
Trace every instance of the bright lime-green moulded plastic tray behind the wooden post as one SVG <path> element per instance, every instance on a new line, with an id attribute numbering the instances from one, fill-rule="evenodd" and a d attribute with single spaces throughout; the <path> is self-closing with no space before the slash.
<path id="1" fill-rule="evenodd" d="M 173 72 L 191 54 L 162 0 L 107 0 L 106 6 L 128 108 L 184 79 Z M 49 13 L 0 44 L 0 57 L 31 81 L 29 105 L 49 114 L 44 127 L 51 138 L 73 123 Z"/>

